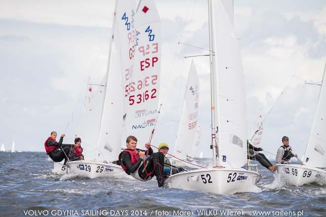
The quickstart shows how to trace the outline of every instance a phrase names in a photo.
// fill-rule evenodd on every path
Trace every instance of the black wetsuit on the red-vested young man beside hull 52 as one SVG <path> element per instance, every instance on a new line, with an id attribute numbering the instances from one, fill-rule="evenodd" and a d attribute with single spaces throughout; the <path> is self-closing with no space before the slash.
<path id="1" fill-rule="evenodd" d="M 136 150 L 146 151 L 138 148 L 136 148 Z M 139 167 L 143 161 L 141 158 L 139 158 L 136 163 L 132 164 L 130 154 L 128 152 L 123 152 L 121 155 L 121 163 L 127 168 L 125 172 L 130 175 L 130 173 L 135 172 L 139 167 L 138 175 L 141 179 L 147 180 L 149 176 L 156 176 L 158 180 L 163 179 L 164 154 L 162 152 L 153 153 L 153 149 L 150 147 L 148 155 L 149 156 L 146 158 L 145 163 Z M 144 169 L 144 165 L 146 170 Z"/>

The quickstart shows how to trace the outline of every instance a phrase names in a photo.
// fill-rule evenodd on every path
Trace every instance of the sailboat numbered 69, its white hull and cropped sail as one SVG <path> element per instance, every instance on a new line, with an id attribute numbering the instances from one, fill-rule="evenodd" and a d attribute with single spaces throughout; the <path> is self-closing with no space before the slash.
<path id="1" fill-rule="evenodd" d="M 286 180 L 293 185 L 301 186 L 307 183 L 319 182 L 325 179 L 326 171 L 326 85 L 325 72 L 323 74 L 322 87 L 316 116 L 303 156 L 302 164 L 277 164 L 278 173 L 285 176 Z"/>

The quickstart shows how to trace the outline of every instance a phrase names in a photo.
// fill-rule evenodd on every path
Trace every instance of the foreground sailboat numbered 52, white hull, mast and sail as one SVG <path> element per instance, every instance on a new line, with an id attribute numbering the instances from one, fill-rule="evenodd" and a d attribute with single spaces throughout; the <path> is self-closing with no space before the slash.
<path id="1" fill-rule="evenodd" d="M 208 0 L 213 166 L 170 176 L 168 188 L 216 194 L 245 192 L 261 179 L 246 163 L 244 74 L 233 2 Z"/>

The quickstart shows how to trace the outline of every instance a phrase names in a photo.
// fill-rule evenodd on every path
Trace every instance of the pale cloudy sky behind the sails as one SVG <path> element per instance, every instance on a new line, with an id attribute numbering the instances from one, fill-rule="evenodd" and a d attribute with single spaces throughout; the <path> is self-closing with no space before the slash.
<path id="1" fill-rule="evenodd" d="M 207 1 L 156 2 L 162 20 L 161 93 L 166 94 L 155 141 L 173 146 L 192 60 L 182 57 L 207 53 L 178 41 L 208 49 Z M 261 114 L 261 146 L 275 153 L 287 135 L 301 157 L 320 90 L 305 82 L 320 82 L 326 61 L 326 1 L 234 0 L 234 9 L 248 137 Z M 14 138 L 17 150 L 43 151 L 53 130 L 72 138 L 67 125 L 82 107 L 87 78 L 100 83 L 106 71 L 113 10 L 113 0 L 1 0 L 0 143 L 6 149 Z M 201 88 L 200 149 L 209 157 L 208 58 L 193 60 Z"/>

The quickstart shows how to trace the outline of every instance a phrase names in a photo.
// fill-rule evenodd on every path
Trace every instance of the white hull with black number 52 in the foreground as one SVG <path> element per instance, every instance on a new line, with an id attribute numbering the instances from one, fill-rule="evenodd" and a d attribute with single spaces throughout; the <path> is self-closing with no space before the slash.
<path id="1" fill-rule="evenodd" d="M 234 194 L 248 191 L 260 178 L 259 173 L 243 168 L 209 168 L 172 175 L 165 180 L 164 187 Z"/>

